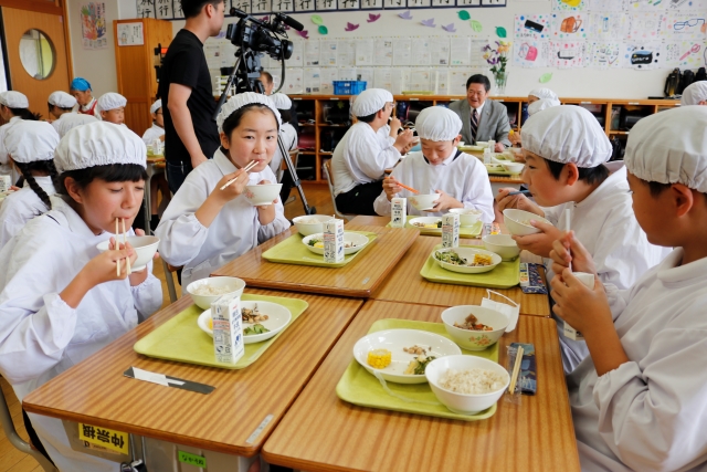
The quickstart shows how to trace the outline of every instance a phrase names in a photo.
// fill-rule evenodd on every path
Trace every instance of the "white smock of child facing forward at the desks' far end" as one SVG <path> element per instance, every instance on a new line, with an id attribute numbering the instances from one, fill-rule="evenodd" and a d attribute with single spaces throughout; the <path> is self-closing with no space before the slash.
<path id="1" fill-rule="evenodd" d="M 421 193 L 442 190 L 462 202 L 464 208 L 479 210 L 482 212 L 481 219 L 490 223 L 495 218 L 494 196 L 486 167 L 481 160 L 468 154 L 462 153 L 455 159 L 456 153 L 456 149 L 453 149 L 452 154 L 437 166 L 430 165 L 422 151 L 410 153 L 393 169 L 392 176 Z M 398 196 L 408 199 L 414 197 L 411 191 L 405 189 Z M 390 214 L 390 201 L 386 197 L 386 191 L 382 191 L 376 199 L 373 209 L 378 214 Z M 408 214 L 441 217 L 444 212 L 420 211 L 408 200 Z"/>

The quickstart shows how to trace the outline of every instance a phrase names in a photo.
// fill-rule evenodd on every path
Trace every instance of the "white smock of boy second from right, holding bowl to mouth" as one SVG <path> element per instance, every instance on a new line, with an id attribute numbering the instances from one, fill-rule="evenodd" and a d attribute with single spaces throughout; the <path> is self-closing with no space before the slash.
<path id="1" fill-rule="evenodd" d="M 570 209 L 570 228 L 587 248 L 603 284 L 625 290 L 648 269 L 657 265 L 669 249 L 653 245 L 639 225 L 632 208 L 626 181 L 626 168 L 611 174 L 589 197 L 579 203 L 567 202 L 545 209 L 545 217 L 557 228 L 564 228 L 564 210 Z M 547 263 L 547 280 L 555 276 L 552 264 Z M 562 335 L 564 322 L 558 322 L 562 364 L 571 373 L 589 355 L 587 343 Z"/>

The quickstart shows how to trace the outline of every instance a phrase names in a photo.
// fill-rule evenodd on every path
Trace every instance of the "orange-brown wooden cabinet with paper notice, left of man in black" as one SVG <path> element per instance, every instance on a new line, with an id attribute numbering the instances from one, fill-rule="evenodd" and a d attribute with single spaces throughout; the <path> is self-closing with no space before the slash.
<path id="1" fill-rule="evenodd" d="M 119 45 L 118 24 L 140 23 L 143 44 Z M 172 41 L 172 24 L 169 21 L 152 18 L 115 20 L 115 62 L 118 75 L 118 93 L 128 99 L 125 108 L 125 124 L 138 135 L 152 124 L 150 105 L 157 97 L 157 76 L 155 72 L 155 48 L 168 46 Z"/>

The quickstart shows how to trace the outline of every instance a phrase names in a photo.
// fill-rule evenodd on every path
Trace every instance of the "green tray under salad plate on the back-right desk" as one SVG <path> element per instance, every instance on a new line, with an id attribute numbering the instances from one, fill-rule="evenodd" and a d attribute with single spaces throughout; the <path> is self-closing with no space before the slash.
<path id="1" fill-rule="evenodd" d="M 434 247 L 434 250 L 441 249 L 442 244 Z M 479 245 L 460 245 L 460 248 L 484 249 Z M 520 258 L 516 258 L 510 262 L 502 262 L 489 272 L 481 274 L 460 274 L 458 272 L 442 269 L 434 260 L 432 254 L 428 258 L 420 275 L 430 282 L 449 283 L 455 285 L 473 285 L 486 289 L 510 289 L 520 283 Z"/>

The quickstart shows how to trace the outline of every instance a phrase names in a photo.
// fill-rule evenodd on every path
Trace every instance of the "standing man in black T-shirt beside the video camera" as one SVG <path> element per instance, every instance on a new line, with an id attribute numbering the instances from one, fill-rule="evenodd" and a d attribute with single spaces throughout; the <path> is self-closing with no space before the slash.
<path id="1" fill-rule="evenodd" d="M 213 157 L 221 143 L 212 118 L 217 103 L 203 43 L 221 31 L 225 3 L 181 0 L 181 9 L 187 24 L 169 45 L 159 84 L 159 96 L 166 105 L 167 179 L 173 193 L 193 168 Z"/>

